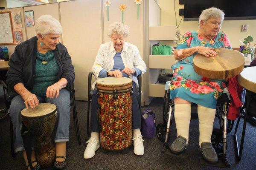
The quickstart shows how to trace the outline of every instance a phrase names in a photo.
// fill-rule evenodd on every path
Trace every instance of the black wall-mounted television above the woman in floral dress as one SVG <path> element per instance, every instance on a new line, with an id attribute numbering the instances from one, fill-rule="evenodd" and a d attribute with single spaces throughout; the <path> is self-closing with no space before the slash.
<path id="1" fill-rule="evenodd" d="M 212 6 L 224 11 L 224 20 L 256 20 L 256 0 L 185 0 L 184 21 L 198 21 Z"/>

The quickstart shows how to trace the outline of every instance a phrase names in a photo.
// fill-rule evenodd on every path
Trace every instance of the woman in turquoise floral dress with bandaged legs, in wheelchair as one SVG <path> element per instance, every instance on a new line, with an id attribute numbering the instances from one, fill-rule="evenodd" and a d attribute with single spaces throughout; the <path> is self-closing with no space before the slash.
<path id="1" fill-rule="evenodd" d="M 214 48 L 231 48 L 224 32 L 219 32 L 224 12 L 218 8 L 208 8 L 199 17 L 199 29 L 184 34 L 174 51 L 178 62 L 172 66 L 173 78 L 167 82 L 170 99 L 175 103 L 175 123 L 177 139 L 171 145 L 175 154 L 182 153 L 189 141 L 191 103 L 198 105 L 199 146 L 204 159 L 216 163 L 218 157 L 211 144 L 213 121 L 218 97 L 226 87 L 225 80 L 201 77 L 193 68 L 196 54 L 214 57 Z"/>

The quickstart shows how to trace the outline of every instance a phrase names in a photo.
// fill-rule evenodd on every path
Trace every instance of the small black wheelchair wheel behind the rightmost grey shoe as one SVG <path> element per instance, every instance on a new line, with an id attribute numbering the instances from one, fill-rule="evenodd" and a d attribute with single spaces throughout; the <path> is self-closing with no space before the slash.
<path id="1" fill-rule="evenodd" d="M 223 132 L 221 132 L 218 128 L 213 128 L 212 130 L 212 147 L 215 149 L 217 153 L 223 153 Z M 227 150 L 227 143 L 226 143 Z"/>

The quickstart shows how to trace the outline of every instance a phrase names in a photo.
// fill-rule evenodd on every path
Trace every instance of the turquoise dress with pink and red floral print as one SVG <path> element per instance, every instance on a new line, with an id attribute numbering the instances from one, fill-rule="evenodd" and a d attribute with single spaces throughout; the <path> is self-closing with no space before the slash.
<path id="1" fill-rule="evenodd" d="M 200 45 L 209 48 L 232 49 L 230 41 L 224 32 L 220 32 L 214 39 L 206 41 L 196 31 L 186 32 L 176 49 Z M 172 66 L 174 71 L 173 78 L 171 81 L 166 82 L 170 89 L 170 99 L 179 97 L 189 102 L 215 109 L 217 99 L 226 87 L 225 80 L 209 79 L 198 75 L 193 68 L 193 58 L 196 54 L 198 53 L 192 54 Z"/>

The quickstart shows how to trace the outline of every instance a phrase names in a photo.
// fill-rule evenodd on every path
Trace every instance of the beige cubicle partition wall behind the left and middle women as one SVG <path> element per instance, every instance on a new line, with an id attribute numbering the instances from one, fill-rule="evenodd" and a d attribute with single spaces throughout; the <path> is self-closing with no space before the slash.
<path id="1" fill-rule="evenodd" d="M 122 4 L 126 6 L 123 12 L 119 8 Z M 67 47 L 76 72 L 76 99 L 87 100 L 87 75 L 91 71 L 99 46 L 110 41 L 108 27 L 114 22 L 122 22 L 123 15 L 123 22 L 129 26 L 130 30 L 127 42 L 139 48 L 140 55 L 148 66 L 148 55 L 150 54 L 148 27 L 160 25 L 159 10 L 160 8 L 154 0 L 143 0 L 140 5 L 137 5 L 134 0 L 111 0 L 109 7 L 106 7 L 105 0 L 71 0 L 0 11 L 20 11 L 23 40 L 35 36 L 35 27 L 25 26 L 24 11 L 33 11 L 34 21 L 43 14 L 50 14 L 61 22 L 63 34 L 60 41 Z M 150 22 L 149 15 L 153 18 Z M 9 55 L 11 55 L 16 45 L 7 46 Z M 143 76 L 142 90 L 142 105 L 144 101 L 148 105 L 148 74 Z"/>

